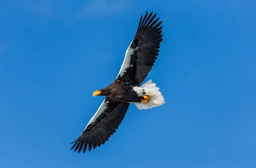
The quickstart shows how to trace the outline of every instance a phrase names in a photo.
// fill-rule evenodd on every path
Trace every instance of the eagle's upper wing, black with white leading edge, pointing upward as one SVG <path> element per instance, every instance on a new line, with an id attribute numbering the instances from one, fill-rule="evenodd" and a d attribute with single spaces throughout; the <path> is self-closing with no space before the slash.
<path id="1" fill-rule="evenodd" d="M 126 50 L 124 62 L 116 78 L 123 84 L 140 86 L 157 59 L 158 48 L 163 40 L 162 26 L 159 27 L 162 22 L 157 23 L 159 18 L 154 20 L 156 14 L 152 14 L 153 12 L 148 15 L 147 11 L 144 18 L 141 16 L 137 33 Z"/>

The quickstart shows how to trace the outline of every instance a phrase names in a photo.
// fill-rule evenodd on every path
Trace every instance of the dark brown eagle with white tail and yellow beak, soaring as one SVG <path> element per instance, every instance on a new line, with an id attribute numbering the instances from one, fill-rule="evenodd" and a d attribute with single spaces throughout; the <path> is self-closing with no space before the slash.
<path id="1" fill-rule="evenodd" d="M 162 26 L 156 14 L 148 11 L 141 15 L 137 32 L 126 50 L 118 76 L 108 87 L 93 92 L 93 96 L 105 96 L 105 100 L 90 119 L 71 149 L 83 149 L 83 153 L 105 144 L 125 117 L 131 103 L 138 109 L 151 109 L 165 103 L 163 95 L 152 80 L 141 85 L 157 59 Z"/>

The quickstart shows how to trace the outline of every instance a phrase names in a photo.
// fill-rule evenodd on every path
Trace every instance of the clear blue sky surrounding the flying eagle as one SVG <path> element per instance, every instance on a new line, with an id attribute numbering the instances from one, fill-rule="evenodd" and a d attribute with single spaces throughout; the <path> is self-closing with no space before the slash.
<path id="1" fill-rule="evenodd" d="M 146 81 L 110 140 L 71 151 L 145 11 L 163 20 Z M 0 167 L 255 168 L 255 0 L 0 1 Z"/>

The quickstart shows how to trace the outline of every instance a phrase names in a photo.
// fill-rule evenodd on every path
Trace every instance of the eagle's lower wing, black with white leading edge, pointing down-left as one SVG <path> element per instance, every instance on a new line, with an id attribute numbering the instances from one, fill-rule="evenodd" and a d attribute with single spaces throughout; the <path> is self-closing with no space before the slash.
<path id="1" fill-rule="evenodd" d="M 75 148 L 78 153 L 83 149 L 89 151 L 96 146 L 101 146 L 108 138 L 116 132 L 119 124 L 125 117 L 129 103 L 121 103 L 105 98 L 101 106 L 90 119 L 81 135 L 73 142 L 75 143 L 71 149 Z"/>

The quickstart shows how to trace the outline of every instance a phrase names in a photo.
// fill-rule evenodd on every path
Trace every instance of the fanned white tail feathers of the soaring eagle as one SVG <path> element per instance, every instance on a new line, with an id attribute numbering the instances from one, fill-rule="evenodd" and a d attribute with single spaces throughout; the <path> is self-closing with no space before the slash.
<path id="1" fill-rule="evenodd" d="M 165 103 L 163 95 L 159 91 L 159 87 L 156 87 L 156 84 L 152 83 L 152 79 L 147 81 L 140 88 L 144 89 L 145 94 L 143 95 L 149 96 L 150 100 L 148 103 L 135 103 L 138 109 L 151 109 L 152 107 L 161 106 Z"/>

